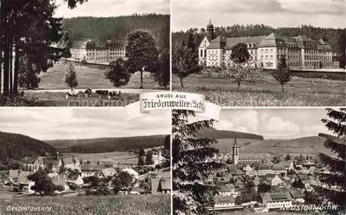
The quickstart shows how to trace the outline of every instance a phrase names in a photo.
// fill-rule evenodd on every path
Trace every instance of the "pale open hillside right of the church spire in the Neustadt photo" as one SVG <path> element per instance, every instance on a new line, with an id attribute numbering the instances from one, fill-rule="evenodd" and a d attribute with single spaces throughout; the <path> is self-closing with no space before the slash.
<path id="1" fill-rule="evenodd" d="M 296 138 L 291 140 L 262 140 L 248 144 L 239 152 L 242 153 L 272 153 L 272 154 L 332 154 L 324 146 L 325 138 L 318 136 Z"/>

